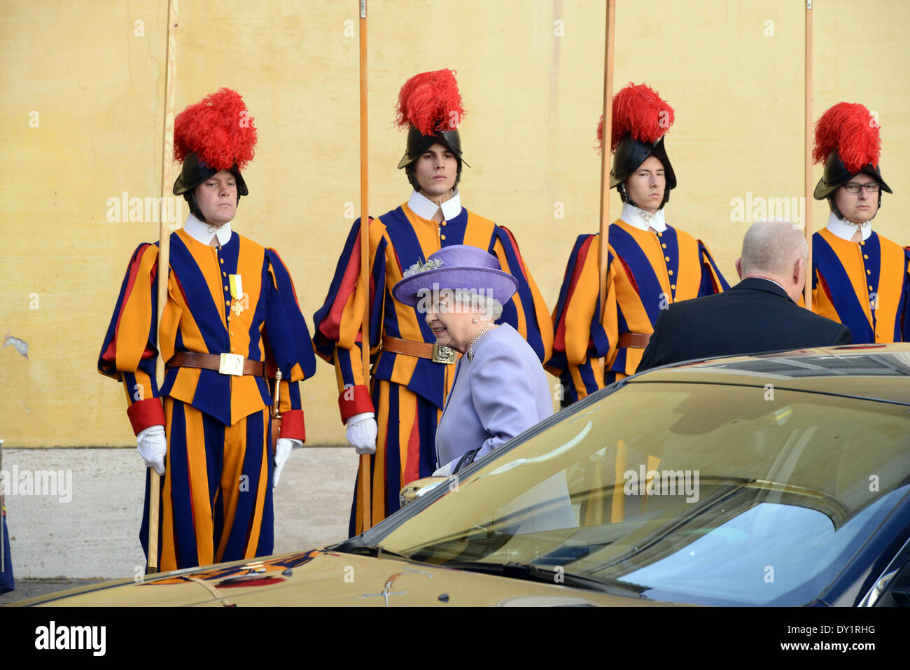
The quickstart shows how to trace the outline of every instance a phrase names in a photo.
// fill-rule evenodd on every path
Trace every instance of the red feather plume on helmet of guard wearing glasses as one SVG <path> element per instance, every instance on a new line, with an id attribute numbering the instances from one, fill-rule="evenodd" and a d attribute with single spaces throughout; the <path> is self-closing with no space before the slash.
<path id="1" fill-rule="evenodd" d="M 878 122 L 863 105 L 839 102 L 815 122 L 814 162 L 824 163 L 834 149 L 851 172 L 869 163 L 878 165 L 882 138 Z"/>

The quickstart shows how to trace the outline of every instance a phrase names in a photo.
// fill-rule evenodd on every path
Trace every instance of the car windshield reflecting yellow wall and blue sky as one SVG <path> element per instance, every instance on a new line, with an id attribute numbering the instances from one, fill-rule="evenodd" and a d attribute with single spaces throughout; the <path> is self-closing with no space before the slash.
<path id="1" fill-rule="evenodd" d="M 652 382 L 566 414 L 443 484 L 382 547 L 662 601 L 805 604 L 910 482 L 910 414 L 886 402 Z"/>

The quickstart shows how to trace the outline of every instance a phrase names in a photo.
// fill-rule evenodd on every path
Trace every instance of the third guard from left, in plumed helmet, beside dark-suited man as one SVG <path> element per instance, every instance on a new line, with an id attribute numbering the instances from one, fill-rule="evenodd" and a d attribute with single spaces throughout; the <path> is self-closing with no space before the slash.
<path id="1" fill-rule="evenodd" d="M 665 221 L 676 175 L 664 147 L 672 107 L 650 86 L 629 84 L 613 96 L 610 188 L 622 214 L 609 230 L 606 307 L 601 313 L 600 234 L 571 250 L 553 311 L 547 369 L 560 377 L 563 406 L 634 374 L 662 309 L 729 289 L 702 240 Z M 597 128 L 603 146 L 603 119 Z"/>

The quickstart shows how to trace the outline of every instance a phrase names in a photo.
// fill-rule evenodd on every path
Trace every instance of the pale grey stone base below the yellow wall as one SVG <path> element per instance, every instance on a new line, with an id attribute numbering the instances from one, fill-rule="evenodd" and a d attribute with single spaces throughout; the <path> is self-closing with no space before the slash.
<path id="1" fill-rule="evenodd" d="M 275 491 L 275 553 L 348 536 L 358 459 L 353 447 L 291 453 Z M 18 491 L 14 484 L 6 495 L 16 590 L 0 596 L 0 604 L 73 588 L 84 580 L 133 577 L 142 569 L 138 535 L 145 465 L 135 447 L 5 448 L 3 468 L 18 472 L 19 482 L 25 471 L 64 475 L 55 494 L 28 493 L 20 483 Z M 68 487 L 66 472 L 71 473 Z"/>

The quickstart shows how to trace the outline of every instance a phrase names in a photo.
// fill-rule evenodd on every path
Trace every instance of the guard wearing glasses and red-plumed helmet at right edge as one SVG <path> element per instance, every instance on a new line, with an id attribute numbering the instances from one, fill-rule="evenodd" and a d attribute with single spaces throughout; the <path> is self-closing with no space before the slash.
<path id="1" fill-rule="evenodd" d="M 839 102 L 815 124 L 813 159 L 824 173 L 814 198 L 827 199 L 831 213 L 812 236 L 812 310 L 843 323 L 854 344 L 910 340 L 910 254 L 872 229 L 882 191 L 892 192 L 881 147 L 862 105 Z"/>

